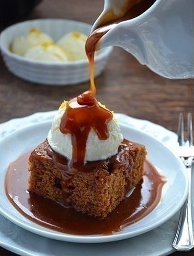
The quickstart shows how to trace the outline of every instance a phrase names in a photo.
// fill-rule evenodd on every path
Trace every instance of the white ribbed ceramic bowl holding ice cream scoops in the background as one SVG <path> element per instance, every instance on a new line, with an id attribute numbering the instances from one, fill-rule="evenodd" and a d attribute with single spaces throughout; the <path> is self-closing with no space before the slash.
<path id="1" fill-rule="evenodd" d="M 18 23 L 6 28 L 0 36 L 0 48 L 8 70 L 24 80 L 48 85 L 68 85 L 89 80 L 87 60 L 65 63 L 36 61 L 21 57 L 9 50 L 16 36 L 25 35 L 32 27 L 48 33 L 54 41 L 71 31 L 80 31 L 86 35 L 90 33 L 91 25 L 65 19 L 35 19 Z M 112 47 L 99 52 L 95 58 L 95 76 L 105 68 Z"/>

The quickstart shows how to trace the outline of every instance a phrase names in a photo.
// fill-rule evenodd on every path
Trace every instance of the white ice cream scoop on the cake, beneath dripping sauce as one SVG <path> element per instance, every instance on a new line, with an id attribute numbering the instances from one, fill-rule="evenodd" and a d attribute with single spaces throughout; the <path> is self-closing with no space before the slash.
<path id="1" fill-rule="evenodd" d="M 69 159 L 72 159 L 71 134 L 64 134 L 60 131 L 61 118 L 65 112 L 66 104 L 67 101 L 62 103 L 59 111 L 54 117 L 51 129 L 48 134 L 48 142 L 55 152 Z M 103 107 L 106 108 L 105 106 Z M 118 147 L 123 141 L 123 136 L 121 134 L 119 124 L 113 117 L 113 119 L 108 122 L 107 127 L 109 131 L 109 137 L 107 140 L 100 140 L 96 132 L 93 129 L 90 130 L 86 142 L 85 162 L 98 161 L 117 154 Z"/>

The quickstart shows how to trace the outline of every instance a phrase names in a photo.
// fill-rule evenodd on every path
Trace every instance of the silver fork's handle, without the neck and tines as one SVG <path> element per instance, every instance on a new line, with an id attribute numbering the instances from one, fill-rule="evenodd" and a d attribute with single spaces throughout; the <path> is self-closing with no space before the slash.
<path id="1" fill-rule="evenodd" d="M 180 216 L 175 239 L 172 243 L 177 251 L 190 251 L 194 248 L 191 217 L 191 166 L 186 167 L 189 178 L 189 193 L 185 204 L 180 209 Z"/>

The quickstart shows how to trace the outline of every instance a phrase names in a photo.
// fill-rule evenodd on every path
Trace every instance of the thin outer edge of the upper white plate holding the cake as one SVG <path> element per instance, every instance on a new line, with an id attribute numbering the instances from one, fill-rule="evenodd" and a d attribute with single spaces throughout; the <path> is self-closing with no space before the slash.
<path id="1" fill-rule="evenodd" d="M 17 133 L 20 133 L 21 131 L 26 131 L 34 126 L 39 126 L 39 125 L 44 125 L 44 124 L 48 124 L 51 123 L 52 120 L 44 120 L 44 121 L 40 121 L 38 123 L 34 123 L 34 124 L 30 124 L 27 127 L 23 127 L 20 128 L 12 133 L 10 133 L 9 135 L 5 136 L 1 142 L 0 145 L 4 143 L 4 141 L 11 137 L 14 136 Z M 187 179 L 187 174 L 186 174 L 186 169 L 184 164 L 181 162 L 180 158 L 178 156 L 176 156 L 172 151 L 169 150 L 169 148 L 162 142 L 157 140 L 157 138 L 141 131 L 138 129 L 135 129 L 134 127 L 131 127 L 129 124 L 124 124 L 122 122 L 119 122 L 119 124 L 121 126 L 124 126 L 127 129 L 131 129 L 134 132 L 138 132 L 143 136 L 149 137 L 151 140 L 157 141 L 157 143 L 162 144 L 166 150 L 173 155 L 173 157 L 176 158 L 176 161 L 179 162 L 179 164 L 182 166 L 181 171 L 182 174 L 185 177 L 185 190 L 184 190 L 184 195 L 182 196 L 181 200 L 179 201 L 179 204 L 177 204 L 178 207 L 174 208 L 173 211 L 170 211 L 170 214 L 168 214 L 167 218 L 163 218 L 159 221 L 157 221 L 157 224 L 152 224 L 149 227 L 144 227 L 141 230 L 138 231 L 133 231 L 133 235 L 129 235 L 128 233 L 115 233 L 115 234 L 111 234 L 111 235 L 107 235 L 107 236 L 99 236 L 99 235 L 76 235 L 76 234 L 69 234 L 69 233 L 62 233 L 62 232 L 58 232 L 58 231 L 54 231 L 55 233 L 53 233 L 52 229 L 49 228 L 44 228 L 44 230 L 42 229 L 38 229 L 36 227 L 33 226 L 29 226 L 29 223 L 27 223 L 24 220 L 21 220 L 19 217 L 15 216 L 13 213 L 10 214 L 9 211 L 7 211 L 0 202 L 0 214 L 2 214 L 6 219 L 8 219 L 9 221 L 12 221 L 14 224 L 16 224 L 17 226 L 24 228 L 30 232 L 36 233 L 40 236 L 43 237 L 47 237 L 50 239 L 55 239 L 55 240 L 60 240 L 60 241 L 66 241 L 66 242 L 77 242 L 77 243 L 102 243 L 102 242 L 112 242 L 112 241 L 119 241 L 119 240 L 123 240 L 123 239 L 127 239 L 130 237 L 135 237 L 135 236 L 139 236 L 140 234 L 143 234 L 145 232 L 149 232 L 152 229 L 157 228 L 158 226 L 162 225 L 162 223 L 164 223 L 165 221 L 167 221 L 168 219 L 170 219 L 173 215 L 175 215 L 175 213 L 180 209 L 180 207 L 184 204 L 187 194 L 188 194 L 188 179 Z M 29 220 L 29 219 L 28 219 Z M 36 225 L 38 225 L 37 223 L 35 223 Z M 40 225 L 38 225 L 40 226 Z M 143 230 L 143 232 L 142 232 Z"/>

